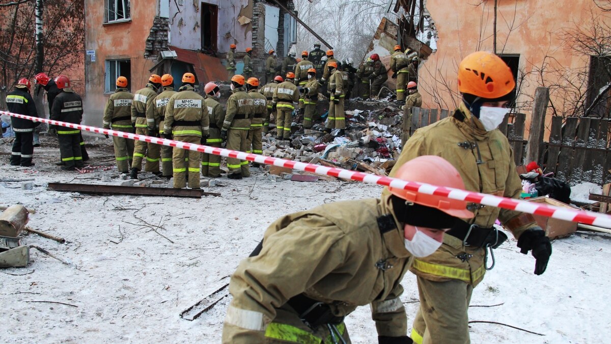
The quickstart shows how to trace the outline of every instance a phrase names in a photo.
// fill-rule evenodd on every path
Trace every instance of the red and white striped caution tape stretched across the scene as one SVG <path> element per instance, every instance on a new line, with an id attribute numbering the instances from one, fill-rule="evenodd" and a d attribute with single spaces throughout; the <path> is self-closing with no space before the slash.
<path id="1" fill-rule="evenodd" d="M 232 151 L 230 149 L 215 148 L 210 146 L 203 146 L 202 144 L 185 143 L 175 140 L 167 140 L 165 138 L 156 138 L 152 136 L 137 135 L 133 133 L 117 132 L 110 129 L 101 129 L 98 127 L 90 127 L 89 125 L 72 124 L 67 122 L 53 121 L 50 119 L 36 118 L 31 116 L 25 116 L 23 114 L 10 113 L 7 111 L 0 111 L 0 114 L 8 114 L 9 116 L 29 119 L 31 121 L 44 122 L 53 125 L 59 125 L 62 127 L 68 127 L 73 129 L 87 130 L 88 132 L 101 133 L 113 136 L 119 136 L 122 138 L 129 138 L 131 140 L 145 141 L 148 143 L 163 144 L 164 146 L 188 149 L 189 151 L 197 151 L 207 154 L 222 155 L 224 157 L 232 157 L 240 160 L 248 160 L 251 162 L 265 163 L 268 165 L 282 166 L 291 168 L 293 170 L 308 171 L 316 174 L 326 174 L 327 176 L 334 176 L 343 179 L 352 179 L 354 181 L 360 181 L 370 184 L 379 184 L 385 186 L 392 186 L 398 189 L 411 190 L 417 193 L 424 193 L 426 195 L 437 195 L 452 198 L 453 200 L 467 201 L 472 203 L 485 204 L 486 206 L 493 206 L 503 209 L 516 210 L 521 212 L 527 212 L 529 214 L 542 215 L 545 217 L 551 217 L 553 219 L 566 220 L 571 222 L 580 222 L 587 225 L 595 225 L 604 228 L 611 228 L 611 216 L 601 214 L 598 212 L 574 210 L 567 208 L 558 208 L 541 203 L 533 203 L 522 200 L 515 200 L 513 198 L 505 198 L 500 196 L 488 195 L 486 193 L 472 192 L 466 190 L 452 189 L 448 187 L 441 187 L 431 184 L 424 184 L 418 182 L 404 181 L 402 179 L 390 178 L 385 176 L 376 176 L 375 174 L 361 173 L 357 171 L 343 170 L 342 168 L 332 168 L 321 165 L 313 165 L 311 163 L 295 162 L 292 160 L 284 160 L 274 157 L 266 157 L 264 155 L 251 154 L 245 152 Z"/>

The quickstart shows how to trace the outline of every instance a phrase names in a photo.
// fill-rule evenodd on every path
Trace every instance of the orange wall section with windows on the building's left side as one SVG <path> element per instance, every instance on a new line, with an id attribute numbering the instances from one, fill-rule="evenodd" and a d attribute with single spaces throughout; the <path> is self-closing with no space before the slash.
<path id="1" fill-rule="evenodd" d="M 130 59 L 131 91 L 144 87 L 154 61 L 144 58 L 145 42 L 153 26 L 156 1 L 131 0 L 131 21 L 104 24 L 104 1 L 86 0 L 86 50 L 95 50 L 95 62 L 86 62 L 86 117 L 88 125 L 101 125 L 104 105 L 109 94 L 104 94 L 105 61 Z M 114 80 L 112 80 L 114 83 Z"/>

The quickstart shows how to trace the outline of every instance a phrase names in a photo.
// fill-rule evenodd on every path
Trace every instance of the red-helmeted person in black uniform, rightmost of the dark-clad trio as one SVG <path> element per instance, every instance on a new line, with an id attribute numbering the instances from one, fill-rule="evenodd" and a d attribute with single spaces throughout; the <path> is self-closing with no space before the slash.
<path id="1" fill-rule="evenodd" d="M 57 75 L 55 83 L 60 93 L 53 101 L 50 118 L 54 121 L 80 124 L 82 121 L 82 99 L 70 88 L 70 80 L 65 75 Z M 57 133 L 62 170 L 74 171 L 83 167 L 81 155 L 81 130 L 49 125 L 49 131 Z"/>

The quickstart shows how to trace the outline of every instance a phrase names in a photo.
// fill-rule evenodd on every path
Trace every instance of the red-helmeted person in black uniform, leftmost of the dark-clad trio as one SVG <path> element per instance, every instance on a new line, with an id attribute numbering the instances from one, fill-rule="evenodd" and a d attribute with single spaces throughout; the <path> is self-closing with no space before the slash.
<path id="1" fill-rule="evenodd" d="M 34 99 L 30 95 L 32 83 L 27 78 L 21 78 L 15 85 L 15 89 L 6 95 L 6 106 L 9 112 L 24 114 L 26 116 L 38 117 Z M 32 156 L 34 146 L 32 145 L 34 129 L 40 122 L 32 122 L 29 119 L 12 117 L 10 119 L 15 132 L 15 141 L 10 154 L 10 165 L 12 166 L 34 166 Z"/>

